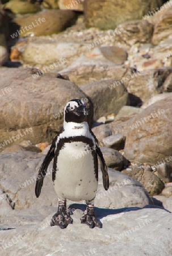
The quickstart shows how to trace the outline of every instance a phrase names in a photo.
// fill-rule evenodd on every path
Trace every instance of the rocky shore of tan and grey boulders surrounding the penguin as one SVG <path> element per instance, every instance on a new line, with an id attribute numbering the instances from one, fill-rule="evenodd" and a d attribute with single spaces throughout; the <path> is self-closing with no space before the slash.
<path id="1" fill-rule="evenodd" d="M 40 2 L 0 3 L 0 256 L 172 255 L 172 1 Z M 102 229 L 80 223 L 83 201 L 68 202 L 73 225 L 49 226 L 52 166 L 34 192 L 72 98 L 108 167 Z"/>

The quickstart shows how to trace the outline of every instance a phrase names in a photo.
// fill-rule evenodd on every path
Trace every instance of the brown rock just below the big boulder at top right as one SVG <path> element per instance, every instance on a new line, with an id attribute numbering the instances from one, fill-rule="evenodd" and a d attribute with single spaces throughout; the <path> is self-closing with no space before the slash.
<path id="1" fill-rule="evenodd" d="M 122 31 L 116 35 L 116 43 L 131 47 L 136 43 L 150 43 L 153 34 L 153 25 L 147 20 L 133 20 L 120 24 L 117 30 Z"/>

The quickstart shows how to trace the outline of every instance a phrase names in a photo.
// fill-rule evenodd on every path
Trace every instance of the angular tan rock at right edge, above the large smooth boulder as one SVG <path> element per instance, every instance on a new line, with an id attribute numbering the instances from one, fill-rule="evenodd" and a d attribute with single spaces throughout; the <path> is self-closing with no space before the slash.
<path id="1" fill-rule="evenodd" d="M 121 81 L 129 93 L 140 97 L 142 101 L 146 101 L 163 92 L 163 82 L 171 72 L 171 68 L 148 69 L 133 75 L 128 71 Z"/>

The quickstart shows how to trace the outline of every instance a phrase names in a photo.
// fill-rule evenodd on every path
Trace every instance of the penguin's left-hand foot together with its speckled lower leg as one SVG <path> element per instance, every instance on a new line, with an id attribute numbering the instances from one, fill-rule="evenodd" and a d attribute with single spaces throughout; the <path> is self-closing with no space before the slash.
<path id="1" fill-rule="evenodd" d="M 65 229 L 68 224 L 73 224 L 73 218 L 70 217 L 69 211 L 66 210 L 66 201 L 60 201 L 58 210 L 53 215 L 50 225 L 60 226 L 61 229 Z"/>

